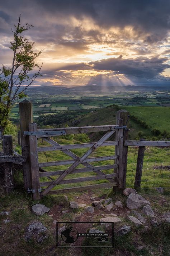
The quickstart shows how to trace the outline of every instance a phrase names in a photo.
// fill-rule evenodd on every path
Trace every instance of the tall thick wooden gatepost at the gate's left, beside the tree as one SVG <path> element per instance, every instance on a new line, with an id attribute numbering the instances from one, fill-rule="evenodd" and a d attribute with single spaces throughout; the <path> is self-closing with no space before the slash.
<path id="1" fill-rule="evenodd" d="M 33 122 L 32 103 L 28 100 L 23 100 L 19 103 L 20 115 L 20 133 L 21 133 L 21 147 L 22 156 L 27 157 L 27 162 L 23 163 L 23 178 L 24 188 L 27 190 L 32 187 L 30 176 L 30 154 L 29 154 L 29 138 L 23 136 L 24 131 L 28 131 L 29 123 Z"/>

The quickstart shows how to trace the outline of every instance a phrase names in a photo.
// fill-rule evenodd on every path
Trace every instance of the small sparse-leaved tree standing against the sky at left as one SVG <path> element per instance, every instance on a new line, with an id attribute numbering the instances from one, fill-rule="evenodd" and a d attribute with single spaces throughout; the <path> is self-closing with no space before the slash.
<path id="1" fill-rule="evenodd" d="M 20 15 L 18 24 L 14 25 L 14 40 L 10 42 L 9 47 L 13 51 L 13 61 L 11 67 L 2 64 L 0 69 L 0 137 L 3 134 L 9 120 L 11 107 L 16 100 L 25 97 L 25 90 L 40 75 L 42 65 L 35 63 L 36 58 L 42 53 L 33 52 L 34 42 L 29 42 L 24 38 L 22 33 L 29 30 L 33 25 L 26 24 L 26 27 L 20 24 Z M 29 74 L 33 68 L 37 68 L 38 72 Z M 22 85 L 26 85 L 21 87 Z"/>

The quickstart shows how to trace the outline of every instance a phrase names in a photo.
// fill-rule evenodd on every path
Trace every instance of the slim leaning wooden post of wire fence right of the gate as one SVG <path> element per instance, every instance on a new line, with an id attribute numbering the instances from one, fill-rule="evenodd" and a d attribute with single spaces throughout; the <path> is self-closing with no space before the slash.
<path id="1" fill-rule="evenodd" d="M 140 186 L 141 186 L 144 152 L 145 152 L 145 146 L 139 147 L 138 156 L 137 156 L 137 166 L 136 166 L 134 188 L 140 188 Z"/>

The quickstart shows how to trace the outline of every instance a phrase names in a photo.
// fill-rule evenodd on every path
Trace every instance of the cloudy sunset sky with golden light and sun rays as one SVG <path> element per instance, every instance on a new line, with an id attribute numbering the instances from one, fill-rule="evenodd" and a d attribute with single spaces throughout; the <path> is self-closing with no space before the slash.
<path id="1" fill-rule="evenodd" d="M 170 1 L 0 1 L 0 63 L 11 66 L 11 28 L 33 24 L 42 86 L 170 85 Z"/>

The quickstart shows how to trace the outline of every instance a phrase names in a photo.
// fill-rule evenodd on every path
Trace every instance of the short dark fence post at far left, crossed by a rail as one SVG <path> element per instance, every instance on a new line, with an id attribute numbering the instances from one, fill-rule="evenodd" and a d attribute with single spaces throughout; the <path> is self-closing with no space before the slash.
<path id="1" fill-rule="evenodd" d="M 4 154 L 13 154 L 13 139 L 11 135 L 4 135 Z M 14 170 L 13 163 L 4 164 L 4 185 L 5 192 L 11 192 L 14 188 Z"/>

